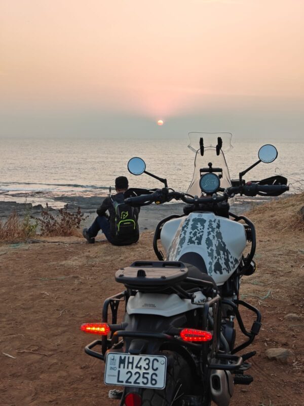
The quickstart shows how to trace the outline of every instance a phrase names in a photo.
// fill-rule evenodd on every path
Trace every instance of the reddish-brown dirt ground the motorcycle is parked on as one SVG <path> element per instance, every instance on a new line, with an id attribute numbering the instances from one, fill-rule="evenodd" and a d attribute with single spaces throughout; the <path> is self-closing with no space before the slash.
<path id="1" fill-rule="evenodd" d="M 260 212 L 250 218 L 256 220 L 258 267 L 254 275 L 243 278 L 241 294 L 261 310 L 262 329 L 248 349 L 257 351 L 250 370 L 254 382 L 235 386 L 231 405 L 300 406 L 303 233 L 288 225 L 283 231 L 273 229 Z M 88 245 L 77 238 L 0 245 L 1 406 L 119 404 L 107 398 L 103 362 L 84 353 L 96 336 L 81 332 L 80 325 L 100 321 L 103 300 L 123 290 L 114 280 L 119 267 L 155 258 L 152 238 L 152 232 L 145 232 L 132 247 Z M 300 319 L 284 319 L 289 313 Z M 250 328 L 251 319 L 243 314 Z M 265 355 L 269 348 L 289 349 L 293 356 L 287 364 L 270 361 Z"/>

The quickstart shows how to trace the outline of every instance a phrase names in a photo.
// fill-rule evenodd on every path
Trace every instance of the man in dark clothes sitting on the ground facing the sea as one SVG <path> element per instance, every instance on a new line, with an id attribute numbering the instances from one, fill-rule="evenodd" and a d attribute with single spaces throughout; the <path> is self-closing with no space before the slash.
<path id="1" fill-rule="evenodd" d="M 124 203 L 124 193 L 128 190 L 128 179 L 119 176 L 115 179 L 117 194 L 106 197 L 97 209 L 98 216 L 89 229 L 83 229 L 88 243 L 95 243 L 95 237 L 102 230 L 106 239 L 113 245 L 129 245 L 139 239 L 139 209 Z M 106 212 L 109 212 L 109 216 Z"/>

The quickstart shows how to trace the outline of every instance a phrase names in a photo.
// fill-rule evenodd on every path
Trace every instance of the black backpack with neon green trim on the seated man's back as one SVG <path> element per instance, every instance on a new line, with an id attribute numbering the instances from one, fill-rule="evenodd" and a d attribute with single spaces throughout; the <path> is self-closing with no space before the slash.
<path id="1" fill-rule="evenodd" d="M 135 236 L 138 233 L 138 222 L 134 207 L 125 202 L 119 203 L 110 197 L 115 209 L 115 229 L 117 237 Z"/>

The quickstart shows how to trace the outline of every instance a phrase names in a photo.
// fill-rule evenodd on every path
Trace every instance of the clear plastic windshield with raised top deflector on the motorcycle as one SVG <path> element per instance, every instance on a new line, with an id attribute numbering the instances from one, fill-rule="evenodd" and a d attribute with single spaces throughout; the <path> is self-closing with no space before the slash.
<path id="1" fill-rule="evenodd" d="M 200 188 L 201 170 L 208 168 L 208 163 L 212 163 L 213 168 L 221 168 L 222 177 L 220 179 L 220 187 L 227 188 L 231 186 L 229 169 L 225 160 L 224 152 L 230 151 L 232 134 L 230 132 L 189 132 L 190 144 L 188 148 L 196 153 L 194 162 L 193 179 L 188 187 L 187 193 L 193 196 L 200 196 L 202 191 Z M 219 155 L 216 154 L 216 145 L 218 137 L 222 140 L 222 147 Z M 204 155 L 201 155 L 200 139 L 203 139 Z M 223 152 L 224 151 L 224 152 Z M 220 175 L 220 173 L 216 173 Z"/>

